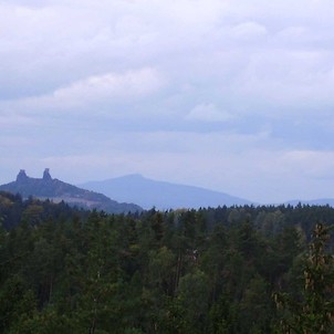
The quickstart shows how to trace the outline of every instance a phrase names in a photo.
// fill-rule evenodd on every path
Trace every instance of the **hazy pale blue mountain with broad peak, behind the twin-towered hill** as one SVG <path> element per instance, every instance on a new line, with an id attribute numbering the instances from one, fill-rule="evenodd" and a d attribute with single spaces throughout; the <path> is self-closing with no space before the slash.
<path id="1" fill-rule="evenodd" d="M 156 181 L 140 175 L 128 175 L 103 181 L 88 181 L 80 187 L 105 194 L 118 201 L 135 202 L 145 209 L 205 208 L 242 206 L 252 202 L 205 188 Z"/>

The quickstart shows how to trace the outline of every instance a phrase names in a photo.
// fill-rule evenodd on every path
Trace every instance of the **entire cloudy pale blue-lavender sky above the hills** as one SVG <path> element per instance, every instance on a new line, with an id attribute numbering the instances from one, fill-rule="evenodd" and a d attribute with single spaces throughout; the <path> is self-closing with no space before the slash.
<path id="1" fill-rule="evenodd" d="M 333 1 L 0 0 L 0 184 L 334 198 Z"/>

